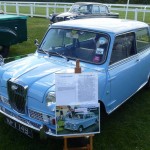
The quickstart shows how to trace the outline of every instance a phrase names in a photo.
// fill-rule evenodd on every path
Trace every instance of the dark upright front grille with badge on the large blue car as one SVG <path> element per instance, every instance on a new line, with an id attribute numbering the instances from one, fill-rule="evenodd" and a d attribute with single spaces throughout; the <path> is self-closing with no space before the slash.
<path id="1" fill-rule="evenodd" d="M 9 96 L 9 103 L 11 107 L 19 112 L 25 113 L 25 104 L 26 104 L 26 95 L 27 95 L 27 86 L 14 83 L 11 80 L 7 81 L 7 89 Z"/>

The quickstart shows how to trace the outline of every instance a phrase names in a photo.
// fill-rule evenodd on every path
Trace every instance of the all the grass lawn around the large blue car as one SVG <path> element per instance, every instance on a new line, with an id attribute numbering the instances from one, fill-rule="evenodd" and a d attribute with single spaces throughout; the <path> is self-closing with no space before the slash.
<path id="1" fill-rule="evenodd" d="M 149 18 L 147 20 L 150 22 Z M 28 41 L 12 46 L 9 56 L 35 52 L 34 39 L 41 41 L 48 25 L 48 19 L 28 18 Z M 101 133 L 94 136 L 93 146 L 94 150 L 149 150 L 150 90 L 142 89 L 106 117 Z M 41 140 L 38 134 L 30 139 L 6 125 L 0 115 L 0 150 L 62 149 L 62 139 Z"/>

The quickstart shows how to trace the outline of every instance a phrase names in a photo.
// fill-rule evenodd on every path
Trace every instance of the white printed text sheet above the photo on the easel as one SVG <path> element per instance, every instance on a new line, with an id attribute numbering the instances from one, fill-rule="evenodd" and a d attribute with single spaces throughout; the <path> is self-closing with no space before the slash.
<path id="1" fill-rule="evenodd" d="M 56 105 L 98 102 L 98 76 L 95 73 L 56 74 Z"/>

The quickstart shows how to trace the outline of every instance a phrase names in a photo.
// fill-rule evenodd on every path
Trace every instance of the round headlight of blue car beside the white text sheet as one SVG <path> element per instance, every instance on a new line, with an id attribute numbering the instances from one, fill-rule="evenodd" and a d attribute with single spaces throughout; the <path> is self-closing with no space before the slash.
<path id="1" fill-rule="evenodd" d="M 48 109 L 50 109 L 50 111 L 55 111 L 55 102 L 55 92 L 49 92 L 46 96 L 46 106 L 48 107 Z"/>

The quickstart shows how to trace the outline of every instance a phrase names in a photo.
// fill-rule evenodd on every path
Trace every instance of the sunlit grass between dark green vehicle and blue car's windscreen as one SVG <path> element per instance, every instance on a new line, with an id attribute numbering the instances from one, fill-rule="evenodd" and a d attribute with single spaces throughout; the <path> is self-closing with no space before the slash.
<path id="1" fill-rule="evenodd" d="M 34 53 L 36 46 L 34 40 L 38 39 L 39 42 L 42 40 L 46 30 L 49 27 L 49 20 L 45 18 L 28 18 L 28 40 L 11 46 L 9 56 L 17 56 L 23 54 Z"/>

